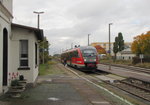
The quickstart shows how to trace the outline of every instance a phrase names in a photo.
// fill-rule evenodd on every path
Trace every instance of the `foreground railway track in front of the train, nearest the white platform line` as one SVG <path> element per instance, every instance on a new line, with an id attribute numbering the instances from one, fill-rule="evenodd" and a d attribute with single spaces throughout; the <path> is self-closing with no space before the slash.
<path id="1" fill-rule="evenodd" d="M 97 75 L 102 75 L 98 71 L 95 71 L 94 73 Z M 82 74 L 82 73 L 77 73 L 77 74 Z M 87 78 L 86 75 L 87 73 L 84 73 L 83 77 Z M 145 100 L 146 102 L 150 103 L 150 83 L 148 82 L 138 80 L 135 78 L 127 78 L 122 81 L 116 80 L 114 82 L 110 82 L 110 81 L 104 81 L 104 80 L 98 79 L 93 76 L 91 77 L 91 81 L 94 82 L 95 84 L 99 83 L 99 81 L 103 81 L 105 84 L 118 88 L 128 94 L 136 96 L 137 98 Z"/>

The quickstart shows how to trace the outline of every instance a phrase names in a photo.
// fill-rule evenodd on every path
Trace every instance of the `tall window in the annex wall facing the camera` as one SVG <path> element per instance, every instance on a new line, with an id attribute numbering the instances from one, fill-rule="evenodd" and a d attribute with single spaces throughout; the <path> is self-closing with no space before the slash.
<path id="1" fill-rule="evenodd" d="M 20 67 L 28 67 L 28 40 L 20 40 Z"/>

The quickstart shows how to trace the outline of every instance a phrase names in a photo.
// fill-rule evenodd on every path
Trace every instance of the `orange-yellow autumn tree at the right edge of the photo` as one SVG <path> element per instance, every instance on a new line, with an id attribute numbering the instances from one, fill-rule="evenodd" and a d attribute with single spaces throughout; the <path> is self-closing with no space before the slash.
<path id="1" fill-rule="evenodd" d="M 131 50 L 136 55 L 150 55 L 150 31 L 134 37 Z"/>

